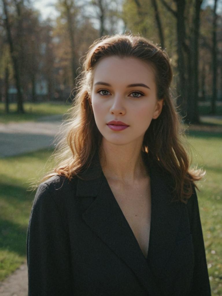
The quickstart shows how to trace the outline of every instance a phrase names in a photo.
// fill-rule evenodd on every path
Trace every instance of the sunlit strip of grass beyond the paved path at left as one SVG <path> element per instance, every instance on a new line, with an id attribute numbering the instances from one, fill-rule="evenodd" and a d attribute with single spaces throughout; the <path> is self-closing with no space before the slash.
<path id="1" fill-rule="evenodd" d="M 38 120 L 42 116 L 60 115 L 67 112 L 71 107 L 69 103 L 56 104 L 56 103 L 24 103 L 24 114 L 16 112 L 17 105 L 12 103 L 9 105 L 9 114 L 4 112 L 4 104 L 0 103 L 0 122 L 8 123 L 11 121 L 28 121 Z"/>

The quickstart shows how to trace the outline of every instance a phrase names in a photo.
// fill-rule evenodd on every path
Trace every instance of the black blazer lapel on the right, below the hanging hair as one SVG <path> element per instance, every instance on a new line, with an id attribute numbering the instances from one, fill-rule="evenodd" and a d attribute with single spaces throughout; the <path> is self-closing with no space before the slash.
<path id="1" fill-rule="evenodd" d="M 170 202 L 172 179 L 158 165 L 150 164 L 151 225 L 147 263 L 158 278 L 169 259 L 181 218 L 181 202 Z"/>

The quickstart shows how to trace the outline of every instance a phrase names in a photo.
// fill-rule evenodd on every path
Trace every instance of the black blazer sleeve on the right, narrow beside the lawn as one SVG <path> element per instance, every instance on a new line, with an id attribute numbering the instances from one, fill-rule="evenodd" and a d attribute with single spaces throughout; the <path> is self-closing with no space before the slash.
<path id="1" fill-rule="evenodd" d="M 190 296 L 211 296 L 200 212 L 194 186 L 193 194 L 188 201 L 188 210 L 194 248 L 194 274 Z"/>

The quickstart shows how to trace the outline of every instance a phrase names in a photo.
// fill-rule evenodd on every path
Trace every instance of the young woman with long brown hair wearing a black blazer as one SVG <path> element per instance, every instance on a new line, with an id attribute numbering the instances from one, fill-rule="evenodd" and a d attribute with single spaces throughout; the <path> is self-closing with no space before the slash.
<path id="1" fill-rule="evenodd" d="M 96 41 L 60 163 L 38 187 L 30 296 L 209 296 L 194 181 L 165 53 L 140 36 Z"/>

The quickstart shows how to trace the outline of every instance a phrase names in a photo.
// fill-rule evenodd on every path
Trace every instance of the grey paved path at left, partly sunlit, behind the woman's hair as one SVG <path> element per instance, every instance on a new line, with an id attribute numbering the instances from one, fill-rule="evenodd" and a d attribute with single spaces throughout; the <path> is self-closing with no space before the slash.
<path id="1" fill-rule="evenodd" d="M 0 157 L 19 155 L 54 147 L 62 115 L 41 118 L 36 122 L 0 123 Z"/>

